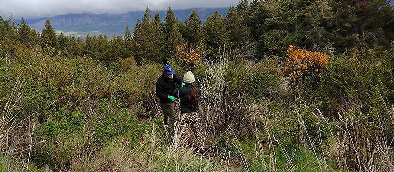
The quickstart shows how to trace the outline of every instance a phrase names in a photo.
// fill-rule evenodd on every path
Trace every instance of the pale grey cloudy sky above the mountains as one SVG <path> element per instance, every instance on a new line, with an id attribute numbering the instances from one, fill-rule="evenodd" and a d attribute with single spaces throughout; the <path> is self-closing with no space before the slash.
<path id="1" fill-rule="evenodd" d="M 34 19 L 68 13 L 123 14 L 128 11 L 236 6 L 240 0 L 0 0 L 0 15 Z"/>

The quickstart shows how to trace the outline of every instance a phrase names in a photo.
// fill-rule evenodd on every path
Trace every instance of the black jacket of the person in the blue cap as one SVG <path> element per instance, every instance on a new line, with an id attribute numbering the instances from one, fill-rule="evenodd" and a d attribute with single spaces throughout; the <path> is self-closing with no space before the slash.
<path id="1" fill-rule="evenodd" d="M 172 79 L 162 74 L 156 81 L 156 96 L 159 97 L 161 103 L 172 102 L 168 95 L 174 96 L 175 83 L 181 85 L 183 80 L 174 74 Z"/>

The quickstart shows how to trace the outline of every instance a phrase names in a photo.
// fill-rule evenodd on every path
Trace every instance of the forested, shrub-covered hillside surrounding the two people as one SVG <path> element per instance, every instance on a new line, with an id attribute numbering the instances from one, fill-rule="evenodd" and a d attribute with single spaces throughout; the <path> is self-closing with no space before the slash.
<path id="1" fill-rule="evenodd" d="M 0 16 L 0 171 L 393 171 L 393 28 L 386 0 L 147 8 L 111 38 Z M 166 64 L 201 88 L 203 147 L 163 124 Z"/>

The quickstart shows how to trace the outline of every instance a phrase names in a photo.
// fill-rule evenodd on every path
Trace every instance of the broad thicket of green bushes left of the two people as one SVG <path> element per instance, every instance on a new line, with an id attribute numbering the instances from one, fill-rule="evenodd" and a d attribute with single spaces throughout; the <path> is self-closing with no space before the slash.
<path id="1" fill-rule="evenodd" d="M 31 132 L 26 126 L 34 123 L 32 162 L 64 170 L 75 157 L 116 137 L 126 136 L 132 143 L 139 139 L 131 128 L 138 127 L 135 115 L 144 89 L 140 80 L 114 76 L 90 58 L 63 59 L 50 47 L 16 46 L 0 45 L 0 53 L 8 57 L 0 59 L 0 104 L 15 103 L 12 112 L 3 112 L 12 113 L 8 115 L 17 123 L 7 141 L 12 147 L 31 144 L 15 138 L 24 138 Z M 24 149 L 12 156 L 24 159 L 27 153 Z"/>

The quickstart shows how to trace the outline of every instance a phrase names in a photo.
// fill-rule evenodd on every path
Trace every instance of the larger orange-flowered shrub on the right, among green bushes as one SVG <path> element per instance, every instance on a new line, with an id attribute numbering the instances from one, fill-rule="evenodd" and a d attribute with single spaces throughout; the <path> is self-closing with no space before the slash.
<path id="1" fill-rule="evenodd" d="M 298 83 L 305 83 L 306 77 L 311 76 L 312 83 L 317 83 L 322 76 L 322 69 L 328 64 L 329 56 L 322 52 L 311 52 L 307 49 L 296 49 L 290 45 L 287 50 L 289 58 L 283 69 L 285 77 L 290 78 L 290 83 L 296 88 Z M 312 85 L 313 86 L 313 85 Z"/>

